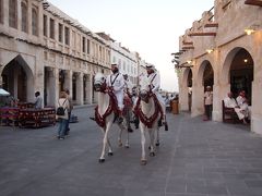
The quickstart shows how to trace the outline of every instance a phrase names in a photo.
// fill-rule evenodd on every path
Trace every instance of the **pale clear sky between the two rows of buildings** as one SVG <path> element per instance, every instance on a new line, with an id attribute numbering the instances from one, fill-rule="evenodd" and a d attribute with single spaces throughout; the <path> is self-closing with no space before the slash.
<path id="1" fill-rule="evenodd" d="M 214 0 L 48 0 L 94 33 L 105 32 L 138 51 L 160 73 L 162 89 L 178 91 L 171 53 L 179 36 L 201 19 Z"/>

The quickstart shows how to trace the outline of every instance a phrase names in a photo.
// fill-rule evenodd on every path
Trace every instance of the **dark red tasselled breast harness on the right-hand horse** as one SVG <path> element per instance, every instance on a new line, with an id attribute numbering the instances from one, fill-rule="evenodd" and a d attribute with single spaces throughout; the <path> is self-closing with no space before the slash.
<path id="1" fill-rule="evenodd" d="M 151 115 L 151 117 L 146 117 L 140 105 L 141 105 L 141 97 L 139 97 L 136 106 L 134 108 L 134 113 L 139 117 L 139 119 L 141 120 L 141 122 L 148 128 L 153 127 L 153 123 L 156 121 L 157 117 L 158 117 L 158 112 L 160 112 L 160 118 L 163 118 L 163 111 L 162 111 L 162 107 L 159 106 L 159 102 L 157 101 L 156 95 L 152 94 L 151 96 L 154 100 L 154 105 L 155 105 L 155 112 Z"/>

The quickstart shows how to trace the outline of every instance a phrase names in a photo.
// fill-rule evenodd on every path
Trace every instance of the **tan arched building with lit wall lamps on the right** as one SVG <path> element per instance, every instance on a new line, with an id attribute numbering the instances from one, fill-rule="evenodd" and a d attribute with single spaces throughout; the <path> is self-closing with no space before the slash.
<path id="1" fill-rule="evenodd" d="M 246 90 L 251 131 L 262 134 L 262 3 L 258 0 L 215 0 L 179 38 L 181 110 L 203 114 L 204 88 L 213 88 L 213 120 L 222 121 L 227 93 Z M 191 90 L 191 93 L 190 93 Z"/>

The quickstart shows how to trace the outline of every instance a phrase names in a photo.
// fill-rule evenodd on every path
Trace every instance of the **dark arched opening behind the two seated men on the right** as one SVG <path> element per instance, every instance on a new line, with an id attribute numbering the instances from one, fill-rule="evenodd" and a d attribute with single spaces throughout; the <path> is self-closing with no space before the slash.
<path id="1" fill-rule="evenodd" d="M 250 53 L 241 48 L 239 49 L 230 64 L 229 70 L 230 90 L 234 97 L 239 91 L 245 90 L 251 105 L 252 81 L 253 81 L 253 59 Z"/>

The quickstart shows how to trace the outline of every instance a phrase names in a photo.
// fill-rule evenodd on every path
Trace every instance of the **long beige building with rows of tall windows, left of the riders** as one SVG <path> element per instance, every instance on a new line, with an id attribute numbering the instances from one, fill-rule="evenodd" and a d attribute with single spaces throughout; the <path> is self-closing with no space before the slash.
<path id="1" fill-rule="evenodd" d="M 75 105 L 96 102 L 94 73 L 109 68 L 109 42 L 52 4 L 0 0 L 0 84 L 20 101 L 38 90 L 56 106 L 68 88 Z"/>

